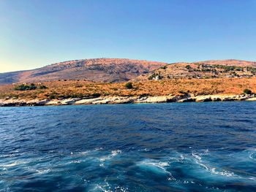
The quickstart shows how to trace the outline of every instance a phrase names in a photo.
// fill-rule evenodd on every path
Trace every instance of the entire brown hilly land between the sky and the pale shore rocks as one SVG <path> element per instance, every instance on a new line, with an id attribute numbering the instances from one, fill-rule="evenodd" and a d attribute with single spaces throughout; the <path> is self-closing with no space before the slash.
<path id="1" fill-rule="evenodd" d="M 256 65 L 249 61 L 165 64 L 99 58 L 1 74 L 2 82 L 6 83 L 10 77 L 15 82 L 35 84 L 1 85 L 0 99 L 7 103 L 12 103 L 13 99 L 56 99 L 58 102 L 61 99 L 95 99 L 99 96 L 103 100 L 111 96 L 140 99 L 148 96 L 233 95 L 244 98 L 245 90 L 250 92 L 248 98 L 251 95 L 256 98 Z M 127 88 L 127 80 L 132 80 L 132 87 Z"/>

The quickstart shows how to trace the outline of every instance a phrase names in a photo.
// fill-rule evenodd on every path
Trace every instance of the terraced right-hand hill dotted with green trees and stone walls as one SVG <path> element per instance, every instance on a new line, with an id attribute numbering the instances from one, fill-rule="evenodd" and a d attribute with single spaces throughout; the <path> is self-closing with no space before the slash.
<path id="1" fill-rule="evenodd" d="M 200 61 L 162 66 L 136 80 L 162 80 L 173 78 L 255 77 L 256 62 L 239 60 Z"/>

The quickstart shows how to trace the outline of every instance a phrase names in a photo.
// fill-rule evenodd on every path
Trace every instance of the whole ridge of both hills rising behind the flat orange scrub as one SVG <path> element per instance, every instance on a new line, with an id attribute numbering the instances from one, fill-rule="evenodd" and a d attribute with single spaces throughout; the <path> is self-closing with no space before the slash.
<path id="1" fill-rule="evenodd" d="M 222 69 L 224 68 L 222 66 L 237 67 L 236 69 L 230 67 L 227 70 Z M 190 69 L 188 69 L 189 67 Z M 167 64 L 127 58 L 91 58 L 64 61 L 26 71 L 0 73 L 0 85 L 52 80 L 125 82 L 154 79 L 158 76 L 160 78 L 239 77 L 241 75 L 250 77 L 255 75 L 255 68 L 256 62 L 235 59 Z"/>

